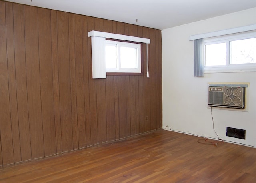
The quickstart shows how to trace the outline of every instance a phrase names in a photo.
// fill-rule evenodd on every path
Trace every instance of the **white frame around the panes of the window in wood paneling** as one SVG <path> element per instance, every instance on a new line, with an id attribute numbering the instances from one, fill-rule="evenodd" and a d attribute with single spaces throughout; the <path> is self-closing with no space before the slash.
<path id="1" fill-rule="evenodd" d="M 120 42 L 120 41 L 112 41 L 112 40 L 106 40 L 106 44 L 117 44 L 118 46 L 118 56 L 117 56 L 117 62 L 118 62 L 118 68 L 106 68 L 106 72 L 120 72 L 120 73 L 141 73 L 141 45 L 136 43 L 128 43 L 128 42 Z M 137 68 L 121 68 L 120 67 L 120 46 L 126 46 L 129 48 L 136 48 L 137 49 Z"/>

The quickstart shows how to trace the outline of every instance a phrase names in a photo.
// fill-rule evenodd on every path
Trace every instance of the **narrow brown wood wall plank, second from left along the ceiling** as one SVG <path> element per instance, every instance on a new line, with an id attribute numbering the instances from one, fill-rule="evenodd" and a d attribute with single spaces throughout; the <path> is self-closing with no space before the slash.
<path id="1" fill-rule="evenodd" d="M 21 161 L 20 152 L 20 132 L 18 121 L 18 107 L 16 95 L 16 73 L 15 73 L 15 58 L 14 58 L 14 30 L 13 30 L 13 7 L 11 3 L 6 4 L 6 42 L 7 42 L 7 61 L 8 61 L 8 81 L 10 95 L 10 114 L 12 121 L 12 144 L 14 153 L 14 162 Z M 19 164 L 19 163 L 17 163 Z"/>

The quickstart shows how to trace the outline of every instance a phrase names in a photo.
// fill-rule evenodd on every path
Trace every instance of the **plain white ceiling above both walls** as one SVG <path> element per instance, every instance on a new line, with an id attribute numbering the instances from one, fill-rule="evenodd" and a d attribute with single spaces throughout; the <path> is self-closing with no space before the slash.
<path id="1" fill-rule="evenodd" d="M 256 7 L 256 0 L 7 1 L 94 16 L 160 30 Z"/>

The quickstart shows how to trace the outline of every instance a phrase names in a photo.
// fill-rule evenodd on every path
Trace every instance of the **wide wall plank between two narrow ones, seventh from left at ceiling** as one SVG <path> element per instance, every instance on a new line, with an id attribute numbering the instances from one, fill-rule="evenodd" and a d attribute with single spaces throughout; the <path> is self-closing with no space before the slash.
<path id="1" fill-rule="evenodd" d="M 73 149 L 68 40 L 68 13 L 57 12 L 58 70 L 62 150 Z"/>

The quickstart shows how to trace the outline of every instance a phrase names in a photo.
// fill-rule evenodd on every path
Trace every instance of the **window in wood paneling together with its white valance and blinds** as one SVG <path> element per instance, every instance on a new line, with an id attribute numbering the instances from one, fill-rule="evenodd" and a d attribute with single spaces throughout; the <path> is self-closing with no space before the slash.
<path id="1" fill-rule="evenodd" d="M 93 79 L 106 78 L 107 72 L 109 74 L 117 72 L 140 74 L 142 72 L 141 44 L 146 44 L 147 77 L 149 77 L 148 44 L 150 44 L 150 39 L 95 30 L 88 32 L 88 37 L 92 37 Z"/>

